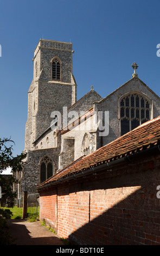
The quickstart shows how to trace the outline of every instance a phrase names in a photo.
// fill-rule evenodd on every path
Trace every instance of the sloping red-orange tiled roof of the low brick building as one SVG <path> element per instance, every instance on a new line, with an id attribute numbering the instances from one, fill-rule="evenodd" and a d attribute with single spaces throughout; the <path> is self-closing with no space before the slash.
<path id="1" fill-rule="evenodd" d="M 115 141 L 99 148 L 87 156 L 83 156 L 76 160 L 68 167 L 56 173 L 48 180 L 37 186 L 37 188 L 54 184 L 55 181 L 60 181 L 67 176 L 83 172 L 100 164 L 109 163 L 117 159 L 121 159 L 127 155 L 133 155 L 145 149 L 155 147 L 160 144 L 160 115 L 152 119 L 136 129 L 117 138 Z"/>

